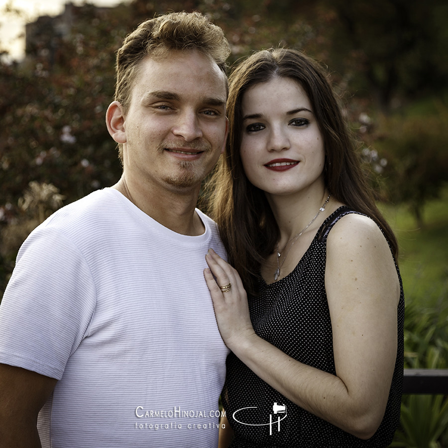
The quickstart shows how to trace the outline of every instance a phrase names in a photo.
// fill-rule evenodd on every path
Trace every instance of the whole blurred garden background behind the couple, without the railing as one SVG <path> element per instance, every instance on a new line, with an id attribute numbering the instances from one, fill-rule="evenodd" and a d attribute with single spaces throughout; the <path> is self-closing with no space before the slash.
<path id="1" fill-rule="evenodd" d="M 399 239 L 406 367 L 448 368 L 446 0 L 1 0 L 0 300 L 28 233 L 119 179 L 105 125 L 115 51 L 168 10 L 220 25 L 230 65 L 288 46 L 328 68 Z M 394 446 L 448 447 L 447 397 L 404 396 L 402 407 Z"/>

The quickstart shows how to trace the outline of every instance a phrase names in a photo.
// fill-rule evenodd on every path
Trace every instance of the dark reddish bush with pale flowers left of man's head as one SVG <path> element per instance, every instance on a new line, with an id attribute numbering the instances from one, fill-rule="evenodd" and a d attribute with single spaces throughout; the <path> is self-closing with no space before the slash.
<path id="1" fill-rule="evenodd" d="M 28 183 L 55 184 L 68 202 L 120 174 L 104 115 L 113 96 L 119 11 L 80 8 L 64 40 L 0 71 L 2 201 L 14 207 Z"/>

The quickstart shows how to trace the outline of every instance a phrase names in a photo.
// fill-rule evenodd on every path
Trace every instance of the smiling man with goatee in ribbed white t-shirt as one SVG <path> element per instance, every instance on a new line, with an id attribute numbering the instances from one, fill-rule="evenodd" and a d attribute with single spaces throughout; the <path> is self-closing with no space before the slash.
<path id="1" fill-rule="evenodd" d="M 227 349 L 202 271 L 224 249 L 195 206 L 224 151 L 228 53 L 199 13 L 119 49 L 122 177 L 31 233 L 1 303 L 0 446 L 217 445 Z"/>

